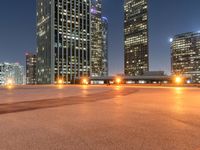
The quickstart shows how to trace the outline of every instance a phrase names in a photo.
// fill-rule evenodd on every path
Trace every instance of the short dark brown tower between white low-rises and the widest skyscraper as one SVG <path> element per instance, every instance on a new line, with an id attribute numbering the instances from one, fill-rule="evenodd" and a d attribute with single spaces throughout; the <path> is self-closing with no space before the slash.
<path id="1" fill-rule="evenodd" d="M 26 53 L 26 84 L 36 84 L 36 62 L 35 54 Z"/>

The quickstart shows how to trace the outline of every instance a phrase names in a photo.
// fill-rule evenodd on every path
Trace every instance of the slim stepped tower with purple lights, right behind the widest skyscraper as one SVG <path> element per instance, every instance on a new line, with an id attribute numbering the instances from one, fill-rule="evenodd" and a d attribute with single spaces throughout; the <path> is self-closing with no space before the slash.
<path id="1" fill-rule="evenodd" d="M 102 0 L 91 2 L 91 76 L 102 77 L 108 75 L 108 21 L 102 17 Z"/>

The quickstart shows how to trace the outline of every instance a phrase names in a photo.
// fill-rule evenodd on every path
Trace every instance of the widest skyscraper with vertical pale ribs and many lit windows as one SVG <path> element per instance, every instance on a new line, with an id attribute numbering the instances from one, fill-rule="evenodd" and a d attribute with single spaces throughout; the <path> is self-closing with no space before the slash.
<path id="1" fill-rule="evenodd" d="M 91 74 L 91 0 L 37 0 L 37 83 Z"/>

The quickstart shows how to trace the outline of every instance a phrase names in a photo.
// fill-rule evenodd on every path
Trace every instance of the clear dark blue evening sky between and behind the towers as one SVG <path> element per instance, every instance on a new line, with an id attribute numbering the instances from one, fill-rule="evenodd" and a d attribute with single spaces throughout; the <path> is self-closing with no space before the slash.
<path id="1" fill-rule="evenodd" d="M 103 0 L 109 19 L 110 74 L 123 72 L 123 1 Z M 170 37 L 200 30 L 200 0 L 149 0 L 150 70 L 170 72 Z M 35 52 L 35 0 L 1 0 L 0 62 L 25 64 Z"/>

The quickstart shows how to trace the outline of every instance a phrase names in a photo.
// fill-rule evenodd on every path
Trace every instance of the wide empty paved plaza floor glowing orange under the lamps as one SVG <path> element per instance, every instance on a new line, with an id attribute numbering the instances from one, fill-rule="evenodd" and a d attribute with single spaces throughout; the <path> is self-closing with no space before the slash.
<path id="1" fill-rule="evenodd" d="M 200 88 L 0 88 L 0 150 L 200 150 Z"/>

